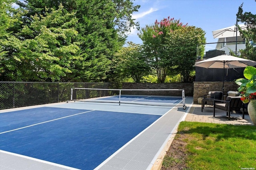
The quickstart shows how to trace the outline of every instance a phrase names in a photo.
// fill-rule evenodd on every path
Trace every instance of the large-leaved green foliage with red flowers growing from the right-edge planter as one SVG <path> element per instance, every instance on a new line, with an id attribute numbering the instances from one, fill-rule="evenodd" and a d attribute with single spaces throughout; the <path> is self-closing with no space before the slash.
<path id="1" fill-rule="evenodd" d="M 256 68 L 247 66 L 244 69 L 244 77 L 237 79 L 235 82 L 240 86 L 238 91 L 241 92 L 241 100 L 248 103 L 250 100 L 256 99 Z"/>

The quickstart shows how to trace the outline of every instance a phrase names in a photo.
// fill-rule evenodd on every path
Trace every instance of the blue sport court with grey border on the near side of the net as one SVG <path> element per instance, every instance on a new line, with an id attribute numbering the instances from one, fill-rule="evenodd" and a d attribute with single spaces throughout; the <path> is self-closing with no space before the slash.
<path id="1" fill-rule="evenodd" d="M 0 110 L 1 169 L 13 168 L 13 159 L 30 162 L 19 169 L 35 169 L 32 162 L 44 169 L 147 169 L 185 113 L 84 102 Z"/>

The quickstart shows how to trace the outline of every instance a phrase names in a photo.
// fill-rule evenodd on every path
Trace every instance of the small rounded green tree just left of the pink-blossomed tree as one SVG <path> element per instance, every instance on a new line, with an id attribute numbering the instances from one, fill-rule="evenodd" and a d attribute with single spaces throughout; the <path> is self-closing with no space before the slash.
<path id="1" fill-rule="evenodd" d="M 131 77 L 134 82 L 140 82 L 143 76 L 150 74 L 148 59 L 143 55 L 141 45 L 128 42 L 128 47 L 122 47 L 115 55 L 115 72 L 122 78 Z"/>

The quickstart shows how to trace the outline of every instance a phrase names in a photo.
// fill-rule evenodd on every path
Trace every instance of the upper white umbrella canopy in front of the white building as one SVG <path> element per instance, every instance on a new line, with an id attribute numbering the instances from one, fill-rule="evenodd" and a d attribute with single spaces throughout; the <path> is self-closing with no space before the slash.
<path id="1" fill-rule="evenodd" d="M 241 29 L 246 29 L 246 26 L 244 24 L 239 24 L 239 26 L 241 27 Z M 236 28 L 236 25 L 233 25 L 231 27 L 226 27 L 226 28 L 212 31 L 212 35 L 213 35 L 213 38 L 236 37 L 236 31 L 237 31 L 237 35 L 240 36 L 240 32 Z"/>

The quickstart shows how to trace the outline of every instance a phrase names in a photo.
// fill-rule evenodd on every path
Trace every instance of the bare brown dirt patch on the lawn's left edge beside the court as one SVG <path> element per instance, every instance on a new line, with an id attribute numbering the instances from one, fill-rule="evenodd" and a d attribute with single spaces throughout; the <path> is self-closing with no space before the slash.
<path id="1" fill-rule="evenodd" d="M 184 170 L 186 167 L 186 159 L 188 157 L 184 139 L 187 139 L 185 134 L 176 135 L 170 149 L 166 153 L 161 170 Z"/>

